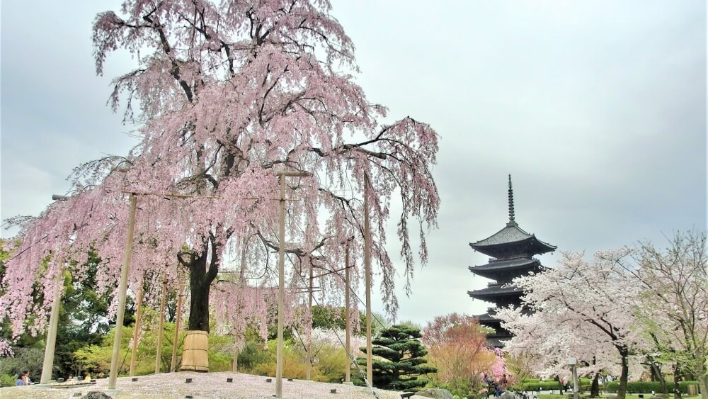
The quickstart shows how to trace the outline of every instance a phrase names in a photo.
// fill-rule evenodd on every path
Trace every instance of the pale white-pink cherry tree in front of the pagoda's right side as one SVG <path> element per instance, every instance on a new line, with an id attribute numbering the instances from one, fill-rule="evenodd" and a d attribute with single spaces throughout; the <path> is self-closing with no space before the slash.
<path id="1" fill-rule="evenodd" d="M 534 313 L 499 310 L 503 326 L 515 335 L 508 351 L 538 354 L 547 371 L 562 368 L 569 356 L 586 364 L 586 373 L 619 369 L 617 397 L 624 398 L 632 355 L 645 346 L 635 316 L 639 286 L 618 263 L 628 254 L 597 252 L 586 262 L 582 254 L 566 252 L 556 269 L 514 279 Z"/>

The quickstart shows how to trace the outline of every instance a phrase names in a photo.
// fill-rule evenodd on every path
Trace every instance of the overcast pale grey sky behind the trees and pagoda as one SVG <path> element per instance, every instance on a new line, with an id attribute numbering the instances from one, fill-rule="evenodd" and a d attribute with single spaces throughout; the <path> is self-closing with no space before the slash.
<path id="1" fill-rule="evenodd" d="M 91 56 L 94 16 L 118 3 L 2 2 L 2 219 L 37 215 L 73 167 L 132 147 L 105 106 L 132 60 L 96 77 Z M 467 291 L 488 281 L 467 266 L 486 256 L 468 243 L 505 225 L 507 174 L 520 227 L 559 250 L 706 228 L 704 1 L 343 0 L 332 14 L 370 101 L 440 134 L 440 228 L 399 319 L 484 313 Z"/>

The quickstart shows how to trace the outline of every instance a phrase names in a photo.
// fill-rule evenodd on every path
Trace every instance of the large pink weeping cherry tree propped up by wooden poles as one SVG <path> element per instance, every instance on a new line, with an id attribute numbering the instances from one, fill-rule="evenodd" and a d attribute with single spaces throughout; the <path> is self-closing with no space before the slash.
<path id="1" fill-rule="evenodd" d="M 178 281 L 186 272 L 190 330 L 208 331 L 211 288 L 224 262 L 242 270 L 250 286 L 262 287 L 273 286 L 273 252 L 280 247 L 293 266 L 291 288 L 309 268 L 341 267 L 342 243 L 352 235 L 362 243 L 363 196 L 370 203 L 382 299 L 395 313 L 384 227 L 396 196 L 400 254 L 410 279 L 409 218 L 419 223 L 418 257 L 425 263 L 424 232 L 435 226 L 440 204 L 431 174 L 438 135 L 410 117 L 382 124 L 387 111 L 353 82 L 354 46 L 330 9 L 324 0 L 127 0 L 120 16 L 107 11 L 96 17 L 99 74 L 110 52 L 135 55 L 135 69 L 115 78 L 110 103 L 114 109 L 125 104 L 125 117 L 139 123 L 140 142 L 125 157 L 76 169 L 69 201 L 52 204 L 37 220 L 16 220 L 23 224 L 23 245 L 11 263 L 23 266 L 10 266 L 4 284 L 18 289 L 1 299 L 3 316 L 16 330 L 28 322 L 23 315 L 34 281 L 49 292 L 64 266 L 58 261 L 81 256 L 88 245 L 105 259 L 102 286 L 117 285 L 127 193 L 139 194 L 131 286 L 141 286 L 146 276 Z M 287 182 L 287 196 L 297 201 L 288 201 L 289 240 L 280 242 L 278 172 L 285 171 L 311 176 Z M 50 267 L 40 269 L 38 259 L 50 252 Z M 362 245 L 353 245 L 350 256 L 360 261 Z M 244 298 L 227 292 L 239 284 L 223 286 L 217 315 L 245 320 L 225 315 L 245 306 L 265 320 L 268 307 L 255 297 L 266 295 L 263 290 L 244 291 Z M 339 298 L 341 286 L 335 275 L 325 277 L 321 295 Z M 290 303 L 296 292 L 290 291 Z M 246 305 L 231 306 L 229 298 Z M 34 327 L 42 327 L 49 300 L 36 309 L 40 317 L 29 320 Z M 291 319 L 292 309 L 286 309 Z"/>

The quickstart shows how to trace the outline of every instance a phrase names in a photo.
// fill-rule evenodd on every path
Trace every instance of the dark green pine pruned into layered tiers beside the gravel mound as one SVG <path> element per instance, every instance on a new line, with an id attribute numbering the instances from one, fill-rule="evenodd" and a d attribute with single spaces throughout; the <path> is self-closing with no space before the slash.
<path id="1" fill-rule="evenodd" d="M 416 390 L 426 385 L 419 379 L 426 373 L 435 373 L 435 367 L 426 366 L 423 356 L 428 351 L 418 340 L 421 330 L 408 325 L 394 325 L 372 340 L 372 355 L 382 359 L 372 362 L 372 384 L 377 388 L 391 390 Z M 361 348 L 366 353 L 366 348 Z M 357 363 L 366 366 L 366 359 Z"/>

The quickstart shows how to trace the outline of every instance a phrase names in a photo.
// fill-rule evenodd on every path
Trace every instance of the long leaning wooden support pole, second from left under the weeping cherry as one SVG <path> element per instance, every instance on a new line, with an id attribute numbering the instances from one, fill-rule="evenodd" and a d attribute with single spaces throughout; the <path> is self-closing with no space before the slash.
<path id="1" fill-rule="evenodd" d="M 127 237 L 125 237 L 125 255 L 123 266 L 120 270 L 120 283 L 118 285 L 118 313 L 115 315 L 115 337 L 113 338 L 113 353 L 110 356 L 110 374 L 108 376 L 108 389 L 115 389 L 115 380 L 118 378 L 118 361 L 120 358 L 120 339 L 123 332 L 123 317 L 125 317 L 125 291 L 128 283 L 128 269 L 132 254 L 132 236 L 135 227 L 135 203 L 137 197 L 130 194 L 130 211 L 128 213 Z"/>

